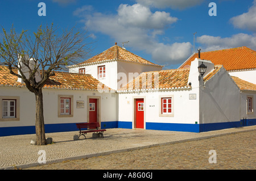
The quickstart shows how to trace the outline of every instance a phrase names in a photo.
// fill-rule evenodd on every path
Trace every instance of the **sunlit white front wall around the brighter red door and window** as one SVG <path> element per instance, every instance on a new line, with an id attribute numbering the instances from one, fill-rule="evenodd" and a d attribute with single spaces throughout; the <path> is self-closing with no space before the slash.
<path id="1" fill-rule="evenodd" d="M 196 99 L 189 99 L 196 94 Z M 134 122 L 134 99 L 144 98 L 144 123 L 199 123 L 199 94 L 195 90 L 119 93 L 119 121 Z M 172 117 L 160 117 L 160 96 L 172 96 Z M 134 124 L 133 124 L 134 128 Z M 144 127 L 145 128 L 145 127 Z"/>

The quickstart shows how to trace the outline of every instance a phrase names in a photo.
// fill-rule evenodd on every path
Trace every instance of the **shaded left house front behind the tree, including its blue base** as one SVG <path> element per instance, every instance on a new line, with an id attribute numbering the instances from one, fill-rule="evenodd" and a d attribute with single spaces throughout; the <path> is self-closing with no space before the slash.
<path id="1" fill-rule="evenodd" d="M 32 133 L 35 126 L 35 95 L 26 87 L 0 87 L 0 101 L 12 99 L 15 96 L 16 114 L 18 119 L 0 119 L 0 136 L 4 136 L 3 128 L 8 128 L 10 134 L 27 129 L 24 133 Z M 59 115 L 59 97 L 71 97 L 72 115 L 63 117 Z M 102 125 L 109 121 L 117 121 L 117 96 L 113 92 L 56 90 L 43 89 L 44 123 L 46 132 L 76 131 L 75 123 L 89 121 L 89 98 L 98 100 L 98 122 Z M 77 107 L 77 102 L 83 102 Z M 111 106 L 109 106 L 111 105 Z M 2 105 L 0 106 L 2 110 Z M 2 114 L 2 111 L 1 111 Z M 2 116 L 1 116 L 2 117 Z M 52 127 L 52 128 L 51 128 Z M 55 132 L 53 131 L 53 132 Z M 7 133 L 6 133 L 7 134 Z"/>

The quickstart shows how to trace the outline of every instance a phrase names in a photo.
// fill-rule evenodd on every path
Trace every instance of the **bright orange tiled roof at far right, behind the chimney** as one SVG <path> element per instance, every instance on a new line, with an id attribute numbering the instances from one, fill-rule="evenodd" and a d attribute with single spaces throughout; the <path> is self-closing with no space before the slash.
<path id="1" fill-rule="evenodd" d="M 198 58 L 198 53 L 192 54 L 180 68 L 187 68 L 195 58 Z M 256 69 L 256 51 L 247 47 L 201 52 L 200 58 L 210 60 L 214 65 L 223 65 L 228 71 Z"/>

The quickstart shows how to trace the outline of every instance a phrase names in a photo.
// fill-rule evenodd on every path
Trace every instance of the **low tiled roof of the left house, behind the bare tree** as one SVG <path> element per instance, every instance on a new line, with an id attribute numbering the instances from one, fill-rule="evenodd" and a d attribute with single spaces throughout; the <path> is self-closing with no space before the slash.
<path id="1" fill-rule="evenodd" d="M 13 69 L 18 72 L 17 69 Z M 68 90 L 102 90 L 113 91 L 109 87 L 103 85 L 90 74 L 77 74 L 55 71 L 55 75 L 49 77 L 44 85 L 44 89 L 68 89 Z M 26 87 L 24 83 L 17 81 L 18 77 L 10 74 L 7 66 L 0 66 L 0 86 Z"/>

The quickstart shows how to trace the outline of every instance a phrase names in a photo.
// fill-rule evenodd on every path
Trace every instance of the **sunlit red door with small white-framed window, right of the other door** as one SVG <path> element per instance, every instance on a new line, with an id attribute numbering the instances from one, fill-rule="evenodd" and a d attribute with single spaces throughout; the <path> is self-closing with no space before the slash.
<path id="1" fill-rule="evenodd" d="M 144 99 L 136 99 L 136 128 L 144 128 Z"/>

